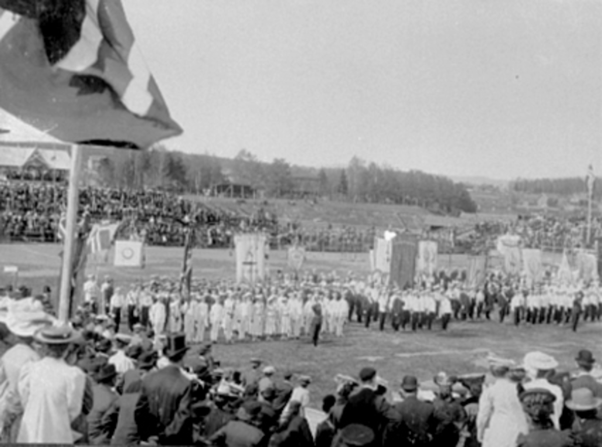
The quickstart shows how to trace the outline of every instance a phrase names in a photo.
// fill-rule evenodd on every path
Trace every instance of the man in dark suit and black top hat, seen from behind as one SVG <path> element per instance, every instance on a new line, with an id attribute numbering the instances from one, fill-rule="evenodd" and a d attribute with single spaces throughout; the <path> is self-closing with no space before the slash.
<path id="1" fill-rule="evenodd" d="M 182 372 L 186 351 L 184 334 L 170 334 L 165 350 L 170 365 L 143 379 L 134 418 L 144 441 L 154 440 L 160 445 L 193 443 L 193 386 Z"/>

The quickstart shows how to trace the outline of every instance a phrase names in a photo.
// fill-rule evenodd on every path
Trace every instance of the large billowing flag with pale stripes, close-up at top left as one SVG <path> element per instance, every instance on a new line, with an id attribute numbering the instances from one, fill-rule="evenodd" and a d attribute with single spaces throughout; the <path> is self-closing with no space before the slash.
<path id="1" fill-rule="evenodd" d="M 1 109 L 61 141 L 138 149 L 182 132 L 120 0 L 0 0 L 0 85 Z"/>

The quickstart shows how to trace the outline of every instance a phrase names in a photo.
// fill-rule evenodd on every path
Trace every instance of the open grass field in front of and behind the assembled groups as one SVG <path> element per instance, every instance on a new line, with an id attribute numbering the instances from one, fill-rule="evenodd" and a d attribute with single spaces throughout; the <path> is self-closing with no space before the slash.
<path id="1" fill-rule="evenodd" d="M 44 284 L 55 288 L 59 268 L 58 245 L 0 245 L 0 272 L 5 265 L 19 267 L 20 283 L 39 292 Z M 181 269 L 182 248 L 150 247 L 146 251 L 146 268 L 116 269 L 110 265 L 88 264 L 88 273 L 110 274 L 118 285 L 147 278 L 152 274 L 177 276 Z M 234 254 L 228 250 L 195 250 L 194 276 L 232 278 Z M 551 259 L 548 259 L 550 261 Z M 442 267 L 463 268 L 464 256 L 443 256 Z M 270 268 L 285 268 L 284 251 L 270 253 Z M 352 270 L 368 273 L 366 255 L 309 253 L 306 268 Z M 0 284 L 10 282 L 11 277 L 0 276 Z M 556 325 L 524 326 L 515 328 L 509 323 L 496 321 L 456 322 L 450 330 L 441 331 L 436 324 L 432 332 L 396 333 L 390 327 L 377 331 L 376 325 L 367 330 L 352 323 L 346 327 L 342 339 L 327 337 L 317 348 L 307 341 L 267 341 L 234 345 L 216 345 L 214 356 L 223 366 L 245 368 L 250 357 L 261 357 L 279 370 L 290 369 L 314 378 L 311 388 L 314 405 L 326 393 L 335 389 L 337 373 L 355 375 L 362 366 L 373 365 L 391 387 L 397 387 L 405 374 L 415 374 L 420 380 L 430 380 L 438 371 L 461 374 L 485 371 L 483 359 L 489 352 L 520 360 L 532 350 L 545 351 L 559 360 L 560 369 L 572 369 L 573 358 L 581 348 L 588 348 L 597 357 L 602 336 L 602 324 L 582 324 L 577 333 L 568 327 Z"/>

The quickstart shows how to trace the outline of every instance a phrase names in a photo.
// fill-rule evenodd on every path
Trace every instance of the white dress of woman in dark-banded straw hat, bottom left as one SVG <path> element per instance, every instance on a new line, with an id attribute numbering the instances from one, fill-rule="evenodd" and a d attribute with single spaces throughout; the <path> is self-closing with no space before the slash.
<path id="1" fill-rule="evenodd" d="M 64 360 L 45 357 L 26 363 L 19 375 L 25 412 L 18 443 L 72 444 L 71 423 L 81 413 L 85 374 Z"/>

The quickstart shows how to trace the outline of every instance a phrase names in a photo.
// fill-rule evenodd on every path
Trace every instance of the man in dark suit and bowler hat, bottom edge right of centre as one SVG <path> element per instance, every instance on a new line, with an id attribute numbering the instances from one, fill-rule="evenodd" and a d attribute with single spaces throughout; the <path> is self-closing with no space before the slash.
<path id="1" fill-rule="evenodd" d="M 385 430 L 383 445 L 431 446 L 436 428 L 435 407 L 418 400 L 418 380 L 414 376 L 406 375 L 401 388 L 403 402 L 393 407 L 394 420 Z"/>

